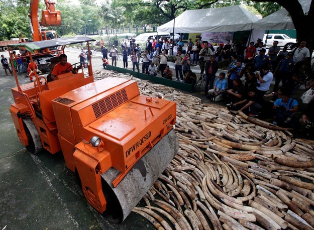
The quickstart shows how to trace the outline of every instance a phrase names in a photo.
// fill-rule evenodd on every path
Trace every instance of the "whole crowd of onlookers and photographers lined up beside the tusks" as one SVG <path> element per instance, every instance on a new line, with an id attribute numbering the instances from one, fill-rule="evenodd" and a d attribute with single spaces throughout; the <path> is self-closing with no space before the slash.
<path id="1" fill-rule="evenodd" d="M 163 78 L 193 86 L 199 77 L 203 77 L 203 94 L 212 101 L 225 100 L 228 108 L 244 111 L 252 117 L 259 116 L 267 108 L 267 111 L 273 111 L 275 125 L 297 127 L 298 122 L 293 114 L 299 109 L 298 102 L 291 95 L 305 80 L 308 83 L 306 88 L 314 86 L 309 80 L 312 72 L 305 41 L 290 51 L 286 47 L 281 49 L 278 41 L 274 41 L 266 51 L 261 39 L 256 43 L 250 42 L 249 46 L 245 45 L 244 39 L 240 39 L 239 43 L 228 40 L 226 44 L 219 44 L 216 50 L 201 37 L 195 43 L 191 39 L 187 43 L 179 39 L 174 43 L 174 73 L 167 65 L 168 57 L 173 52 L 171 39 L 148 39 L 144 49 L 132 44 L 133 41 L 131 38 L 121 44 L 125 68 L 128 68 L 127 58 L 131 55 L 133 70 L 137 67 L 137 71 L 140 71 L 141 60 L 142 72 L 146 74 L 157 76 L 160 73 Z M 219 62 L 224 60 L 230 61 L 228 73 L 221 72 L 216 79 Z M 193 65 L 199 65 L 200 76 L 191 71 Z M 272 86 L 273 79 L 275 84 Z M 272 93 L 267 93 L 269 91 Z"/>

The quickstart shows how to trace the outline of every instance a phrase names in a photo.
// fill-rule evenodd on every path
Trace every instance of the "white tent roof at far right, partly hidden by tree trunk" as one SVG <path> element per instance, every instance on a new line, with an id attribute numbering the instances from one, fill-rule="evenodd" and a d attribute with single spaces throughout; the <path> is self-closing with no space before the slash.
<path id="1" fill-rule="evenodd" d="M 303 12 L 309 11 L 311 0 L 299 0 Z M 291 17 L 286 9 L 282 8 L 275 13 L 253 23 L 253 29 L 257 30 L 294 30 Z"/>

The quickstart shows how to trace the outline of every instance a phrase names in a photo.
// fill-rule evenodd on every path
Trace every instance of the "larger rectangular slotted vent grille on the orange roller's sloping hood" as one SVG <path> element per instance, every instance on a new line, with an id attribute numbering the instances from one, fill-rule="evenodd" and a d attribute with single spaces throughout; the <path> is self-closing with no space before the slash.
<path id="1" fill-rule="evenodd" d="M 96 103 L 92 104 L 92 109 L 96 118 L 101 117 L 103 114 L 113 110 L 124 102 L 128 101 L 128 95 L 125 89 L 122 89 L 110 96 L 107 96 Z"/>

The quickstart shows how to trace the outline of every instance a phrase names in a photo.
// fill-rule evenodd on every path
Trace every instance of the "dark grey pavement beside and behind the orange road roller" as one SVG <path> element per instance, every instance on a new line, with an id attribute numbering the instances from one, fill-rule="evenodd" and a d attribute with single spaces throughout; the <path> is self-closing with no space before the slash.
<path id="1" fill-rule="evenodd" d="M 1 54 L 8 56 L 7 52 Z M 71 63 L 78 61 L 78 53 L 67 54 Z M 102 68 L 100 56 L 92 61 L 94 70 Z M 21 84 L 29 82 L 22 75 L 18 78 Z M 14 77 L 6 76 L 1 68 L 0 229 L 154 229 L 135 213 L 122 224 L 104 220 L 86 203 L 62 153 L 31 155 L 24 148 L 9 112 L 14 86 Z"/>

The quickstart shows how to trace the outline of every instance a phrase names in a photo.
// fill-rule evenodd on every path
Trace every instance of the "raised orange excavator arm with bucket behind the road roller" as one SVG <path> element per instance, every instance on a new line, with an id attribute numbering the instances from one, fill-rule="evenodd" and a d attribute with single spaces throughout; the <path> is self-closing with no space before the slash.
<path id="1" fill-rule="evenodd" d="M 30 25 L 34 41 L 41 41 L 40 26 L 60 26 L 61 15 L 60 11 L 55 10 L 55 3 L 45 0 L 46 10 L 42 11 L 41 22 L 38 20 L 38 3 L 39 0 L 31 0 L 30 3 Z"/>

